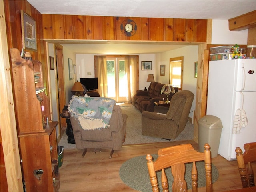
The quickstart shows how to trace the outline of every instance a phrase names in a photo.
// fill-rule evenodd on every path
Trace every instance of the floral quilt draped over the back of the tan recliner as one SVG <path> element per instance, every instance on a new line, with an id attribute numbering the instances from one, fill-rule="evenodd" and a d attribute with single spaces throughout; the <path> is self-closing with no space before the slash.
<path id="1" fill-rule="evenodd" d="M 68 105 L 70 116 L 78 118 L 84 130 L 107 128 L 115 100 L 104 97 L 72 96 Z"/>

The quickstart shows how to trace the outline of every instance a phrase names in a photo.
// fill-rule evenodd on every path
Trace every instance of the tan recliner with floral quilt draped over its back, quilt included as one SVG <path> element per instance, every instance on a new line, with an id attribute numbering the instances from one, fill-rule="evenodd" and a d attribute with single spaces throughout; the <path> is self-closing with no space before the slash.
<path id="1" fill-rule="evenodd" d="M 109 148 L 109 158 L 121 150 L 126 136 L 127 115 L 115 100 L 103 97 L 73 96 L 68 106 L 76 148 Z"/>

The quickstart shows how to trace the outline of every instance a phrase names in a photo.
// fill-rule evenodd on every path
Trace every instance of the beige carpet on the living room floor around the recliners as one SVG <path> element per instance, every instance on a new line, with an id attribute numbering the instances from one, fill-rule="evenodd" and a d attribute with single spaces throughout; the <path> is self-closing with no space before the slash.
<path id="1" fill-rule="evenodd" d="M 168 142 L 166 139 L 154 138 L 142 135 L 141 131 L 141 112 L 136 109 L 132 104 L 121 104 L 122 112 L 128 115 L 126 121 L 126 138 L 124 145 L 129 144 L 142 144 L 142 143 L 155 143 L 155 142 Z M 192 140 L 194 136 L 194 125 L 187 122 L 185 129 L 181 134 L 170 141 Z M 64 146 L 65 149 L 76 148 L 76 144 L 67 142 L 68 136 L 64 133 L 58 145 Z"/>

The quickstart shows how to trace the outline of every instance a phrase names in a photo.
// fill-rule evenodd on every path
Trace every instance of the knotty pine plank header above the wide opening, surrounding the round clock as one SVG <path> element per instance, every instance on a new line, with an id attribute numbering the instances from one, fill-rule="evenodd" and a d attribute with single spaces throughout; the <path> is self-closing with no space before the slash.
<path id="1" fill-rule="evenodd" d="M 133 36 L 121 23 L 132 19 Z M 42 14 L 44 39 L 206 42 L 207 20 Z"/>

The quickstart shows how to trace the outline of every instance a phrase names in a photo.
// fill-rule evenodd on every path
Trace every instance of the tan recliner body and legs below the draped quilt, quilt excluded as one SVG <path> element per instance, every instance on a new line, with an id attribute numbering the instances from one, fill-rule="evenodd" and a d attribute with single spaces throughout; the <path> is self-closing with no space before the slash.
<path id="1" fill-rule="evenodd" d="M 109 126 L 102 129 L 84 130 L 78 118 L 71 115 L 70 120 L 73 127 L 73 134 L 76 141 L 76 148 L 84 149 L 85 155 L 87 148 L 109 148 L 112 149 L 110 157 L 115 150 L 121 150 L 126 136 L 127 115 L 122 114 L 120 106 L 113 106 Z"/>

